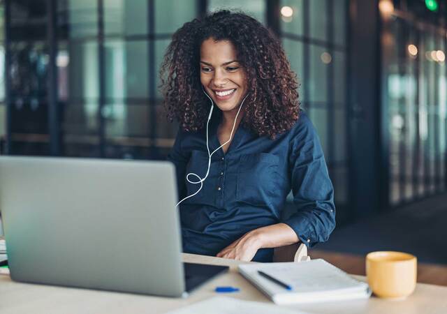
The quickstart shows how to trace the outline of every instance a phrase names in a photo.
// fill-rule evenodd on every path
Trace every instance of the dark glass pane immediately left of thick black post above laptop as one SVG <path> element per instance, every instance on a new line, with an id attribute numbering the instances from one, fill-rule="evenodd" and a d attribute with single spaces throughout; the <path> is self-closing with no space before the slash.
<path id="1" fill-rule="evenodd" d="M 47 155 L 48 12 L 44 0 L 6 1 L 10 153 Z"/>

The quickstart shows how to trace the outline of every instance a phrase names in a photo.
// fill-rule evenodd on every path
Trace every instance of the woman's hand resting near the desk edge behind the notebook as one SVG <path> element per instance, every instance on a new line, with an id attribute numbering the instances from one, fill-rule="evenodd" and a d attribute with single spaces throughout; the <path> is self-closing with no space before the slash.
<path id="1" fill-rule="evenodd" d="M 223 248 L 216 256 L 249 262 L 253 259 L 259 248 L 261 248 L 261 245 L 258 236 L 256 232 L 251 231 L 244 234 L 226 248 Z"/>

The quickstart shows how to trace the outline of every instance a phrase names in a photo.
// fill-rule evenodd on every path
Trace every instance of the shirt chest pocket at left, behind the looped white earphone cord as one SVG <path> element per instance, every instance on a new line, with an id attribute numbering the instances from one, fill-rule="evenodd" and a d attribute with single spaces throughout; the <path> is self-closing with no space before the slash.
<path id="1" fill-rule="evenodd" d="M 200 179 L 203 179 L 205 177 L 205 174 L 207 174 L 207 168 L 208 168 L 208 153 L 205 151 L 191 151 L 191 158 L 189 159 L 188 165 L 186 165 L 186 174 L 189 174 L 190 172 L 197 174 Z M 213 163 L 211 163 L 210 167 L 210 173 L 208 174 L 207 179 L 203 181 L 203 187 L 193 197 L 189 197 L 188 199 L 184 200 L 185 203 L 189 204 L 214 204 L 215 202 L 215 189 L 214 186 L 216 186 L 216 180 L 217 175 L 213 172 Z M 197 182 L 200 179 L 194 175 L 190 175 L 188 177 L 190 181 Z M 186 180 L 185 177 L 185 184 L 186 184 L 186 191 L 188 193 L 187 196 L 192 195 L 198 191 L 200 188 L 200 183 L 198 184 L 191 184 L 188 180 Z"/>

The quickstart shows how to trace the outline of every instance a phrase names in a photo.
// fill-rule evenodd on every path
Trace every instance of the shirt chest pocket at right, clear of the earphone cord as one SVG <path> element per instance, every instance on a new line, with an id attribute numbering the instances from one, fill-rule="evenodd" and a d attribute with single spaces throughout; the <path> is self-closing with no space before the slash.
<path id="1" fill-rule="evenodd" d="M 240 157 L 237 169 L 236 199 L 252 205 L 268 205 L 278 188 L 279 157 L 272 154 L 247 154 Z"/>

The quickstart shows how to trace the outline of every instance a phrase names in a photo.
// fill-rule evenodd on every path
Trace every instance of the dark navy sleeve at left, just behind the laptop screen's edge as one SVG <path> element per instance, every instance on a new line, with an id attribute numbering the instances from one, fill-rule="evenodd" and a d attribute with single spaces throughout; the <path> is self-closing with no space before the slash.
<path id="1" fill-rule="evenodd" d="M 178 130 L 175 137 L 174 146 L 168 155 L 167 160 L 175 165 L 175 174 L 177 176 L 177 192 L 179 200 L 182 200 L 186 196 L 186 186 L 184 184 L 184 178 L 186 176 L 186 164 L 189 161 L 189 156 L 182 150 L 183 132 Z"/>

